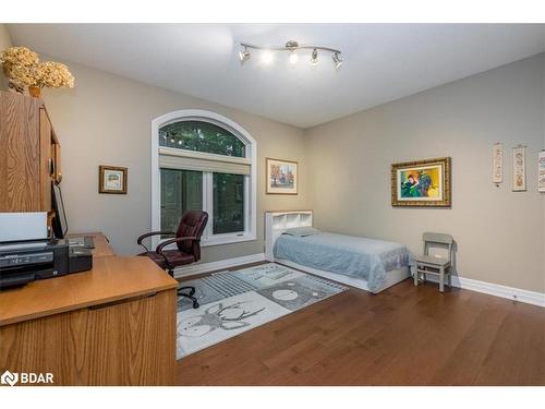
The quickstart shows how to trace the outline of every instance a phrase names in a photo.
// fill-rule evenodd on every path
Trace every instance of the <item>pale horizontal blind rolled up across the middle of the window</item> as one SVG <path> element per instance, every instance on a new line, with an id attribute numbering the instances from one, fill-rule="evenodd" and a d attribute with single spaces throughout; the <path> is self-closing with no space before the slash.
<path id="1" fill-rule="evenodd" d="M 221 158 L 221 156 L 219 156 L 219 158 Z M 247 164 L 245 159 L 241 160 L 240 158 L 231 158 L 229 156 L 226 156 L 225 159 L 218 159 L 216 157 L 211 159 L 206 158 L 204 155 L 197 156 L 194 153 L 184 155 L 183 151 L 171 154 L 160 149 L 159 167 L 165 169 L 196 170 L 202 172 L 250 175 L 250 164 Z"/>

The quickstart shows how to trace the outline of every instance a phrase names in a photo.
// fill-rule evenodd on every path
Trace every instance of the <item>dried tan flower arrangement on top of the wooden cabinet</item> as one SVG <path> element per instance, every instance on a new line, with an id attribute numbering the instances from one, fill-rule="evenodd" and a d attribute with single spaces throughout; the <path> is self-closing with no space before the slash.
<path id="1" fill-rule="evenodd" d="M 66 65 L 40 62 L 38 55 L 26 47 L 11 47 L 0 52 L 0 63 L 10 80 L 10 88 L 19 93 L 27 86 L 31 95 L 37 97 L 43 87 L 74 87 L 74 77 Z"/>

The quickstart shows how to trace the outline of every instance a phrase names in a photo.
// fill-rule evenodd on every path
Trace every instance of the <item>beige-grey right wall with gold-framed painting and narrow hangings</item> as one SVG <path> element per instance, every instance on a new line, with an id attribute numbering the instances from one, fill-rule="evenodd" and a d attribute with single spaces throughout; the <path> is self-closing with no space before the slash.
<path id="1" fill-rule="evenodd" d="M 544 56 L 439 86 L 305 131 L 311 203 L 319 228 L 407 243 L 451 233 L 460 276 L 545 291 Z M 505 182 L 492 183 L 504 143 Z M 528 192 L 511 192 L 511 147 L 528 145 Z M 393 208 L 390 164 L 452 157 L 452 208 Z"/>

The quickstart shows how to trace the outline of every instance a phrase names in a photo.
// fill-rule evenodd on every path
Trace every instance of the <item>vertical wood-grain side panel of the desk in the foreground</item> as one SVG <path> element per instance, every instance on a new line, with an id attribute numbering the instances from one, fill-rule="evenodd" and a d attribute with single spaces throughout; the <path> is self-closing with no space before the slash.
<path id="1" fill-rule="evenodd" d="M 175 290 L 0 327 L 0 369 L 56 385 L 172 385 Z"/>

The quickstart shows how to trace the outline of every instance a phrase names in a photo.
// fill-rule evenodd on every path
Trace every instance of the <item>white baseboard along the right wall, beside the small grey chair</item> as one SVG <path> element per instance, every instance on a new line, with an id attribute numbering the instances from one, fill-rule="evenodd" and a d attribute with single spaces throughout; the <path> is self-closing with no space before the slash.
<path id="1" fill-rule="evenodd" d="M 438 282 L 439 278 L 428 275 L 427 280 Z M 545 308 L 545 293 L 543 292 L 529 291 L 521 288 L 507 287 L 499 284 L 480 281 L 455 275 L 452 275 L 452 287 Z"/>

